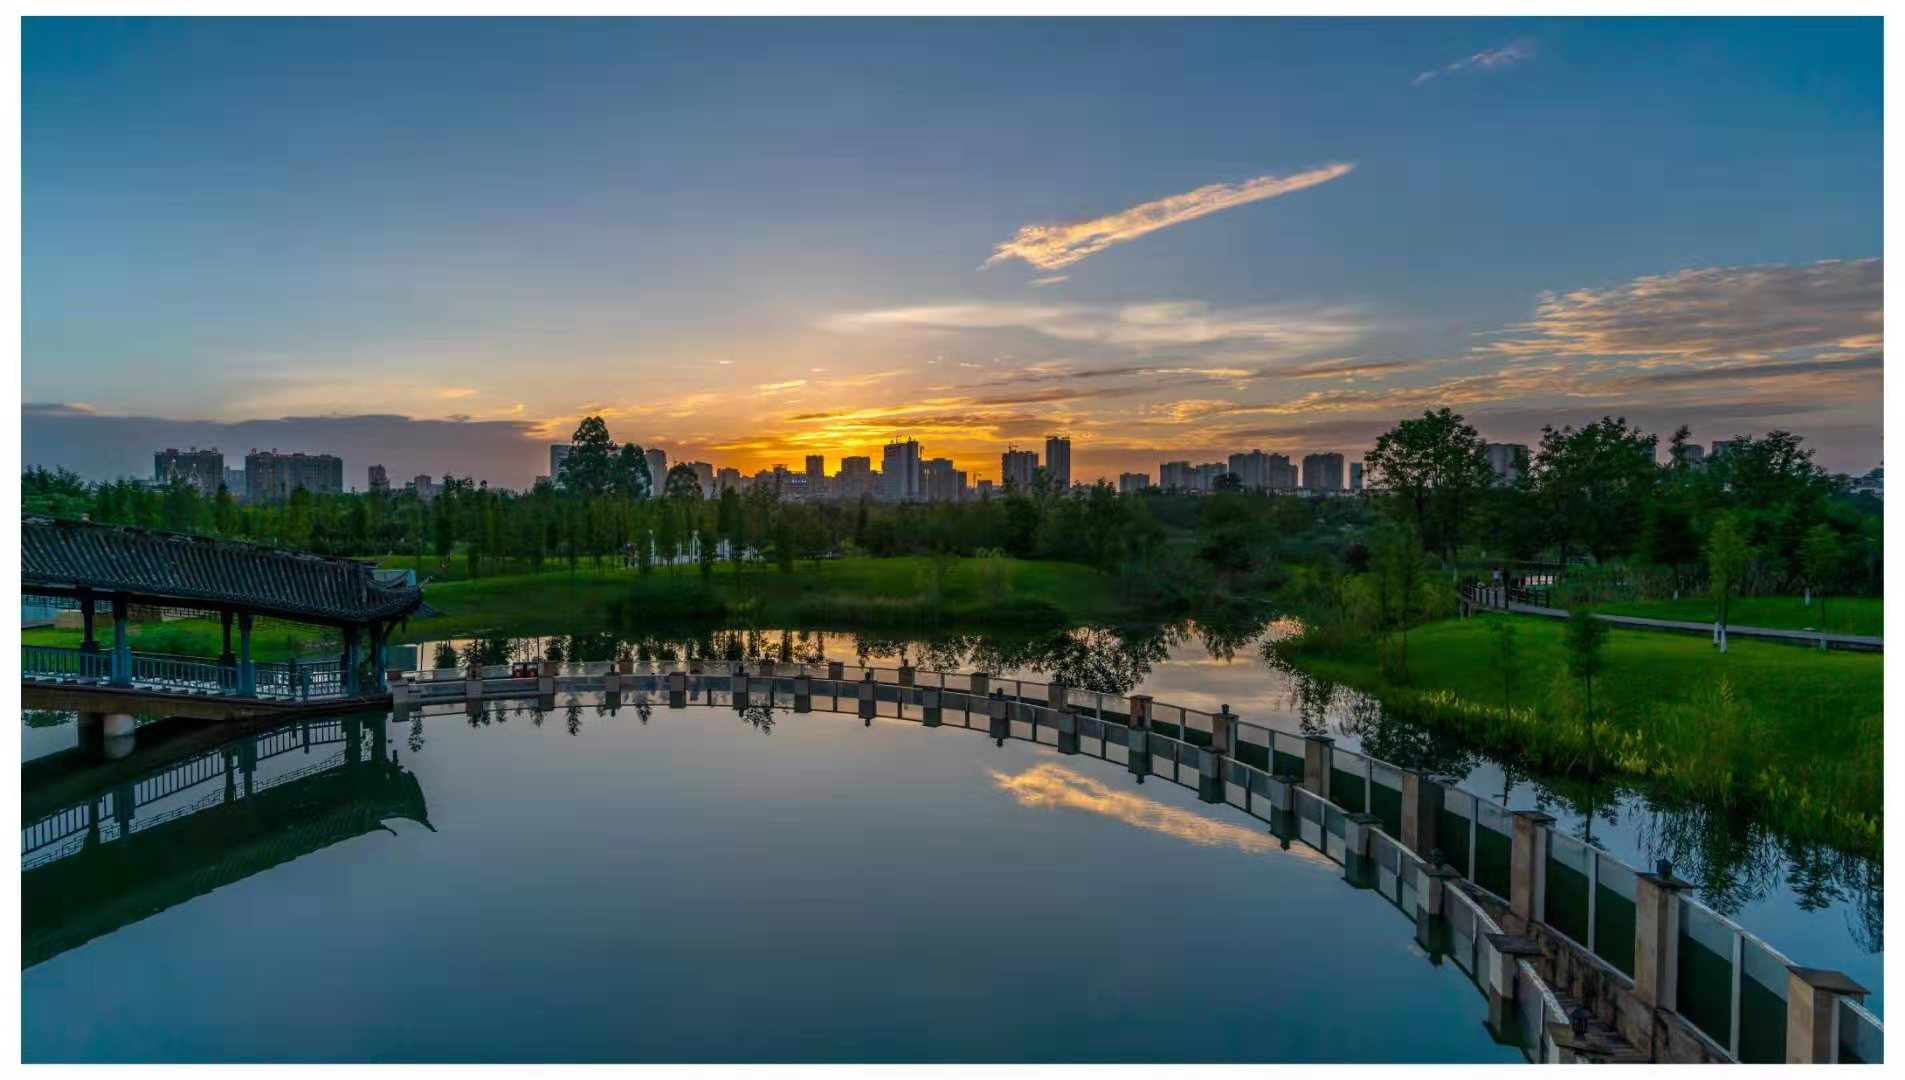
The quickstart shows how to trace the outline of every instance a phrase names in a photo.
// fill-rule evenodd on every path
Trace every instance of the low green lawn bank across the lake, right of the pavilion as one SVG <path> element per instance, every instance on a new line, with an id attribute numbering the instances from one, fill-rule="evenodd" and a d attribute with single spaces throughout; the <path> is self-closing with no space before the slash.
<path id="1" fill-rule="evenodd" d="M 575 632 L 644 623 L 741 621 L 812 629 L 1042 627 L 1122 611 L 1114 579 L 1071 562 L 981 558 L 840 558 L 791 573 L 720 566 L 545 570 L 505 577 L 431 581 L 438 613 L 411 619 L 402 640 L 478 632 Z"/>

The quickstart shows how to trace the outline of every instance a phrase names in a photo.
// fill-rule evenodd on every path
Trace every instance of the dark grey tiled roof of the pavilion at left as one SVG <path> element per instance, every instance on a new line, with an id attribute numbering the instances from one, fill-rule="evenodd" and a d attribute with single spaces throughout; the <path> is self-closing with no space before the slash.
<path id="1" fill-rule="evenodd" d="M 423 590 L 379 585 L 370 564 L 238 541 L 21 520 L 21 589 L 95 589 L 145 598 L 242 606 L 259 615 L 370 623 L 415 611 Z"/>

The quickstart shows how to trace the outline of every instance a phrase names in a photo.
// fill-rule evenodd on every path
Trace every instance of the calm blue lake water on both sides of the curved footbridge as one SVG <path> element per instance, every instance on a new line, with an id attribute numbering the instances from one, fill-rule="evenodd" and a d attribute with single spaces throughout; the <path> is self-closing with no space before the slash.
<path id="1" fill-rule="evenodd" d="M 1882 1011 L 1876 867 L 1505 773 L 1280 670 L 1257 634 L 632 644 L 1057 672 L 1421 760 L 1634 865 L 1673 859 L 1705 903 L 1800 964 L 1844 970 Z M 610 659 L 617 642 L 448 646 L 497 663 L 551 646 Z M 436 653 L 419 648 L 425 665 Z M 29 758 L 74 745 L 59 720 L 29 716 Z M 27 1059 L 1520 1057 L 1383 897 L 1233 808 L 1107 762 L 825 712 L 749 724 L 564 701 L 358 724 L 373 768 L 337 771 L 335 743 L 257 764 L 282 806 L 200 789 L 141 804 L 170 830 L 149 861 L 29 853 L 29 882 L 46 884 L 25 890 Z M 128 895 L 53 914 L 90 891 Z"/>

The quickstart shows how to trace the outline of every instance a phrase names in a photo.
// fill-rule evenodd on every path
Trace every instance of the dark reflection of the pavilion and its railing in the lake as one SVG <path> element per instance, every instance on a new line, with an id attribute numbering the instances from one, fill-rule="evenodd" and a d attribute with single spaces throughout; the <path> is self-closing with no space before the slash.
<path id="1" fill-rule="evenodd" d="M 101 787 L 21 829 L 21 966 L 391 817 L 429 827 L 381 716 L 288 724 Z"/>

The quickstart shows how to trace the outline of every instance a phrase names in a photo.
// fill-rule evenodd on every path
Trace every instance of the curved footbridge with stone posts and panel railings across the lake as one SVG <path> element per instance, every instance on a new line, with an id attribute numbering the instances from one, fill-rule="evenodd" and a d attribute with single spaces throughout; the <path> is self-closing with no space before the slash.
<path id="1" fill-rule="evenodd" d="M 402 716 L 480 716 L 579 695 L 598 709 L 846 712 L 1025 739 L 1162 777 L 1265 821 L 1415 922 L 1486 994 L 1490 1029 L 1535 1061 L 1882 1061 L 1865 990 L 1804 968 L 1694 899 L 1671 867 L 1627 867 L 1507 808 L 1337 749 L 1149 695 L 983 672 L 846 663 L 570 663 L 391 672 Z"/>

